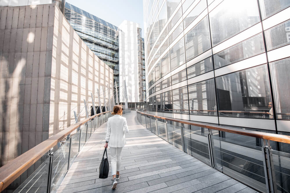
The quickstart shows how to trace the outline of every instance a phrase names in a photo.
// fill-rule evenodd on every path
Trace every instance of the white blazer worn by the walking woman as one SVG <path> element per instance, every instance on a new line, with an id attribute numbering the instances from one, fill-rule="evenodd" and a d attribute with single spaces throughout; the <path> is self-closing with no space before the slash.
<path id="1" fill-rule="evenodd" d="M 114 115 L 108 118 L 106 141 L 112 148 L 124 147 L 126 144 L 125 133 L 128 133 L 128 126 L 125 117 Z"/>

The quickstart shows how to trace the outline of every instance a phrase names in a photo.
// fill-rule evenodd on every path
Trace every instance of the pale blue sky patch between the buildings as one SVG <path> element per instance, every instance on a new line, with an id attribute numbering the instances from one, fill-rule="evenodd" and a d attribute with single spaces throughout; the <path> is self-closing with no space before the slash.
<path id="1" fill-rule="evenodd" d="M 117 27 L 124 20 L 139 23 L 144 38 L 142 0 L 66 0 L 66 2 Z"/>

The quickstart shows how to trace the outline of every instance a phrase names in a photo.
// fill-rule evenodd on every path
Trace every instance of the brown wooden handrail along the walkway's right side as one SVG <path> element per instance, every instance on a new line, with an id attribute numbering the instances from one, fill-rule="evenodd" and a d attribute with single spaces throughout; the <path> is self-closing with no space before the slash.
<path id="1" fill-rule="evenodd" d="M 143 113 L 141 111 L 136 110 L 138 113 L 141 113 L 143 115 L 147 115 L 150 117 L 155 117 L 158 119 L 163 119 L 163 120 L 168 120 L 168 121 L 174 121 L 178 123 L 183 123 L 183 124 L 188 124 L 188 125 L 194 125 L 198 127 L 204 127 L 208 129 L 214 129 L 214 130 L 219 130 L 219 131 L 225 131 L 228 133 L 235 133 L 239 135 L 246 135 L 250 137 L 257 137 L 260 139 L 266 139 L 266 140 L 271 140 L 271 141 L 277 141 L 277 142 L 282 142 L 282 143 L 287 143 L 290 144 L 290 136 L 288 135 L 280 135 L 280 134 L 274 134 L 274 133 L 265 133 L 265 132 L 260 132 L 260 131 L 251 131 L 251 130 L 238 130 L 238 129 L 230 129 L 225 126 L 217 126 L 215 124 L 210 124 L 210 123 L 200 123 L 200 122 L 194 122 L 194 121 L 188 121 L 188 120 L 182 120 L 182 119 L 174 119 L 170 117 L 162 117 L 159 115 L 151 115 L 149 113 Z"/>

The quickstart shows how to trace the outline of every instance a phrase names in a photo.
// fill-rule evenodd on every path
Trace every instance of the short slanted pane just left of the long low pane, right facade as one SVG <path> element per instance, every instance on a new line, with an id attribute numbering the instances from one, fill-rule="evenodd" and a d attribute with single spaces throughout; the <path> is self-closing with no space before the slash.
<path id="1" fill-rule="evenodd" d="M 187 68 L 187 79 L 213 70 L 212 57 L 206 58 Z"/>

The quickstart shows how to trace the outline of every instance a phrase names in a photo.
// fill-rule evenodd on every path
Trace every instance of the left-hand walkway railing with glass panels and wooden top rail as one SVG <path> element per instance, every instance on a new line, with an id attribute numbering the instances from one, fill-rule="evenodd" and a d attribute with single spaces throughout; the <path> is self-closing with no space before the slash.
<path id="1" fill-rule="evenodd" d="M 0 192 L 13 184 L 14 192 L 55 192 L 75 158 L 94 131 L 108 121 L 112 111 L 90 116 L 53 135 L 0 168 Z M 131 109 L 123 109 L 123 114 Z M 31 166 L 39 167 L 31 172 Z M 30 175 L 19 183 L 24 172 Z M 7 190 L 11 191 L 11 190 Z"/>

